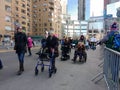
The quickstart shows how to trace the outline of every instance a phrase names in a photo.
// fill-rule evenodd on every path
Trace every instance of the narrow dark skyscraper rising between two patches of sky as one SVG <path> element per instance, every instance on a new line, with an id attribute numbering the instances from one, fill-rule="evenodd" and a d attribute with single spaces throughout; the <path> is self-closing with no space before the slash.
<path id="1" fill-rule="evenodd" d="M 85 2 L 86 0 L 78 0 L 78 20 L 85 20 Z"/>

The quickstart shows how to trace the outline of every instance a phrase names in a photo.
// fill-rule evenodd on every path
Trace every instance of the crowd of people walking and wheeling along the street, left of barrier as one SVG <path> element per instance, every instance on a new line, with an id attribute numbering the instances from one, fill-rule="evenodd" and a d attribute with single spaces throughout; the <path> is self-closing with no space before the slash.
<path id="1" fill-rule="evenodd" d="M 59 42 L 60 41 L 60 42 Z M 11 40 L 11 45 L 14 43 L 14 50 L 18 56 L 19 62 L 19 70 L 17 75 L 21 75 L 24 72 L 24 57 L 25 53 L 28 53 L 28 56 L 32 56 L 31 48 L 35 46 L 33 39 L 30 34 L 26 35 L 23 32 L 22 27 L 18 27 L 16 29 L 16 33 L 14 35 L 14 40 Z M 63 39 L 59 40 L 55 35 L 54 30 L 49 30 L 45 33 L 44 38 L 41 40 L 41 48 L 44 50 L 47 48 L 47 52 L 49 53 L 49 57 L 54 56 L 51 62 L 51 69 L 56 70 L 55 59 L 59 56 L 59 44 L 61 45 L 61 60 L 70 59 L 68 55 L 71 52 L 71 49 L 74 48 L 74 56 L 73 62 L 76 62 L 77 56 L 79 56 L 79 61 L 81 62 L 82 57 L 87 59 L 86 50 L 93 49 L 96 47 L 96 38 L 95 36 L 91 37 L 89 40 L 85 38 L 84 35 L 81 35 L 79 39 L 72 39 L 71 37 L 63 37 Z M 39 51 L 38 51 L 39 53 Z M 0 60 L 2 65 L 2 62 Z M 3 66 L 2 66 L 3 67 Z M 2 69 L 1 67 L 1 69 Z"/>

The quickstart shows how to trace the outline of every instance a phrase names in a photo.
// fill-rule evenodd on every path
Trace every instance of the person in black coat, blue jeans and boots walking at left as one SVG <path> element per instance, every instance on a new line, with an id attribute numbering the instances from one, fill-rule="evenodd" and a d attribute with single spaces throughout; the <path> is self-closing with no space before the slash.
<path id="1" fill-rule="evenodd" d="M 19 27 L 15 34 L 15 47 L 14 47 L 19 59 L 19 71 L 17 75 L 21 75 L 22 72 L 24 71 L 24 55 L 27 50 L 26 45 L 27 36 L 24 32 L 22 32 L 22 27 Z"/>

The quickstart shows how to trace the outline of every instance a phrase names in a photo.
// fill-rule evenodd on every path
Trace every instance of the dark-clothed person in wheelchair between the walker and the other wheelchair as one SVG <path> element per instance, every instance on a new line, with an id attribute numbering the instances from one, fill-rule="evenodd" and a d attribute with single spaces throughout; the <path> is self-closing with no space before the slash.
<path id="1" fill-rule="evenodd" d="M 62 45 L 61 45 L 61 50 L 62 50 L 62 56 L 61 59 L 67 60 L 70 58 L 68 53 L 70 52 L 70 43 L 67 38 L 64 39 Z"/>

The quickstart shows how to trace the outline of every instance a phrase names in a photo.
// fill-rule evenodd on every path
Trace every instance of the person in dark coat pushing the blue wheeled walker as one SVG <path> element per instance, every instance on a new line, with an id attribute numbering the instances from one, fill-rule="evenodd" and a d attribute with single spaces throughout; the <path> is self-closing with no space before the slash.
<path id="1" fill-rule="evenodd" d="M 54 71 L 56 69 L 55 66 L 55 52 L 58 53 L 58 38 L 54 35 L 54 30 L 49 31 L 49 35 L 46 39 L 46 46 L 48 48 L 48 51 L 50 53 L 50 56 L 52 56 L 52 53 L 54 53 L 53 60 L 52 60 L 52 70 Z"/>

